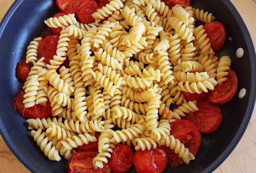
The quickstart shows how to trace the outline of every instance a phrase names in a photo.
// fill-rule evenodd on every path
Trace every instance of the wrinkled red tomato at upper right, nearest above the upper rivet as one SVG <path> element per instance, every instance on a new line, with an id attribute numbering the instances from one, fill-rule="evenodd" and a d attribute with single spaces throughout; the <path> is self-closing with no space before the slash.
<path id="1" fill-rule="evenodd" d="M 204 25 L 205 33 L 210 39 L 211 48 L 219 51 L 226 40 L 226 29 L 224 25 L 218 21 L 209 22 Z"/>

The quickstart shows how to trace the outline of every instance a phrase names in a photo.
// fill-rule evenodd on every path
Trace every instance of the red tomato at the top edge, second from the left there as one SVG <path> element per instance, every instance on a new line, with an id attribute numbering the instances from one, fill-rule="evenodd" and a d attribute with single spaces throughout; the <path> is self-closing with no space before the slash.
<path id="1" fill-rule="evenodd" d="M 95 22 L 92 14 L 99 8 L 99 4 L 94 0 L 83 0 L 77 10 L 77 18 L 80 23 L 90 24 Z"/>

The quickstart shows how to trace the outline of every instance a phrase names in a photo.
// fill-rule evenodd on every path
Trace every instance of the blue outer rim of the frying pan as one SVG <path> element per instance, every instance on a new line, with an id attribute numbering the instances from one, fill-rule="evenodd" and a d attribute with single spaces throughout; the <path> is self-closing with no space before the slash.
<path id="1" fill-rule="evenodd" d="M 12 16 L 16 8 L 18 8 L 19 4 L 23 0 L 15 0 L 12 6 L 9 8 L 9 10 L 6 12 L 4 18 L 0 22 L 0 38 L 2 36 L 3 30 L 6 26 L 6 23 L 8 22 L 9 18 Z M 238 22 L 238 26 L 241 28 L 242 33 L 246 40 L 246 45 L 249 50 L 249 57 L 250 57 L 250 63 L 251 63 L 251 76 L 256 75 L 256 52 L 254 50 L 254 45 L 252 42 L 252 39 L 250 37 L 248 28 L 246 27 L 246 24 L 244 23 L 244 20 L 240 16 L 239 12 L 236 10 L 235 6 L 232 4 L 230 0 L 223 0 L 224 4 L 226 4 L 227 8 L 233 12 L 233 16 L 236 18 L 236 21 Z M 252 112 L 254 110 L 254 104 L 256 100 L 256 79 L 251 78 L 251 90 L 250 90 L 250 96 L 249 96 L 249 103 L 246 108 L 246 113 L 244 116 L 244 119 L 242 120 L 242 123 L 232 141 L 228 145 L 228 147 L 222 152 L 222 154 L 212 163 L 210 164 L 202 173 L 212 173 L 215 169 L 217 169 L 225 160 L 226 158 L 232 153 L 232 151 L 235 149 L 235 147 L 238 145 L 239 141 L 242 139 L 242 136 L 244 135 L 244 132 L 246 131 L 246 128 L 248 127 L 248 123 L 252 117 Z M 15 157 L 32 173 L 40 173 L 41 171 L 37 169 L 34 165 L 32 165 L 23 154 L 16 148 L 16 145 L 12 142 L 10 136 L 8 135 L 6 129 L 2 128 L 3 123 L 0 119 L 0 135 L 4 139 L 4 142 L 8 146 L 8 148 L 12 151 L 12 153 L 15 155 Z"/>

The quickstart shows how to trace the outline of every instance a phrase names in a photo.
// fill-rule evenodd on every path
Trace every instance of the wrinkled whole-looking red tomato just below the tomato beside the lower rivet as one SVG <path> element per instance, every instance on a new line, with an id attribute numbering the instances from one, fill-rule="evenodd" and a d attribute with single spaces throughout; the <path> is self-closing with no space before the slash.
<path id="1" fill-rule="evenodd" d="M 222 113 L 216 103 L 200 101 L 198 111 L 186 114 L 186 119 L 194 123 L 200 133 L 212 133 L 218 129 L 222 122 Z"/>

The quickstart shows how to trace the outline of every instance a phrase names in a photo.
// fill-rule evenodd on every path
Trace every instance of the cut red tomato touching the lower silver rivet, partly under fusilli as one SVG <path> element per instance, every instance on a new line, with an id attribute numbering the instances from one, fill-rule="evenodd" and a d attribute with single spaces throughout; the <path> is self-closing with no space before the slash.
<path id="1" fill-rule="evenodd" d="M 224 104 L 232 99 L 234 94 L 236 93 L 238 81 L 236 73 L 229 69 L 227 70 L 228 75 L 225 76 L 228 78 L 226 81 L 222 82 L 222 85 L 217 85 L 214 87 L 214 90 L 209 91 L 206 95 L 206 100 Z"/>

